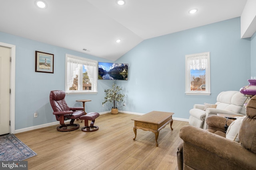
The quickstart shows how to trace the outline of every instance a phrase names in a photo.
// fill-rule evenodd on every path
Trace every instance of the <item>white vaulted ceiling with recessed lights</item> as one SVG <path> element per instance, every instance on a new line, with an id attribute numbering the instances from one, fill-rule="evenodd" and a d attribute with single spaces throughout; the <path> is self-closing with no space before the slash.
<path id="1" fill-rule="evenodd" d="M 0 31 L 111 61 L 145 39 L 239 17 L 246 4 L 246 0 L 125 0 L 122 6 L 117 0 L 43 1 L 45 9 L 38 8 L 36 0 L 0 0 Z M 198 12 L 189 14 L 193 8 Z"/>

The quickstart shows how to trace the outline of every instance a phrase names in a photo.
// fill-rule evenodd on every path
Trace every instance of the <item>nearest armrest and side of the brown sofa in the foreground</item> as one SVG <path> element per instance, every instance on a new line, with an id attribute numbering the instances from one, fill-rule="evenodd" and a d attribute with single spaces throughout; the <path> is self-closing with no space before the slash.
<path id="1" fill-rule="evenodd" d="M 184 167 L 200 170 L 256 169 L 256 154 L 240 143 L 189 125 L 180 129 L 180 138 L 184 141 Z"/>

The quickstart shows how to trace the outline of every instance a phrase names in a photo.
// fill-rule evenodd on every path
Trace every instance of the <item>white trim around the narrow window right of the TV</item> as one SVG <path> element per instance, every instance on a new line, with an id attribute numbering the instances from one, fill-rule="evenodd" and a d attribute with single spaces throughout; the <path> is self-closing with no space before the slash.
<path id="1" fill-rule="evenodd" d="M 205 56 L 206 55 L 206 68 L 205 68 L 205 84 L 206 90 L 199 91 L 199 90 L 191 90 L 190 89 L 190 65 L 188 65 L 188 59 L 191 57 L 198 57 L 198 56 Z M 198 53 L 198 54 L 191 54 L 186 55 L 186 95 L 210 95 L 211 88 L 210 88 L 210 52 L 206 53 Z"/>

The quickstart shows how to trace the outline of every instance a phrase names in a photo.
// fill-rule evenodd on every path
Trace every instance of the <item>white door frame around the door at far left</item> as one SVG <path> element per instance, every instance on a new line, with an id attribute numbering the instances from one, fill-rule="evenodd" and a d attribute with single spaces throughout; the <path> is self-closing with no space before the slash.
<path id="1" fill-rule="evenodd" d="M 10 133 L 14 133 L 15 131 L 15 52 L 16 46 L 12 44 L 1 43 L 0 46 L 10 48 L 12 61 L 10 65 Z"/>

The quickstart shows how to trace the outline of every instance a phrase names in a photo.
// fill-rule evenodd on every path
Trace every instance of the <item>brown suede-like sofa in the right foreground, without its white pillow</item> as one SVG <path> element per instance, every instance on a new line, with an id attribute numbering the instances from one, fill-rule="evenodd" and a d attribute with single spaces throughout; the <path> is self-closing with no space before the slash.
<path id="1" fill-rule="evenodd" d="M 179 170 L 256 170 L 256 96 L 246 106 L 238 133 L 240 143 L 226 139 L 226 118 L 212 115 L 206 123 L 207 130 L 190 125 L 180 129 Z"/>

